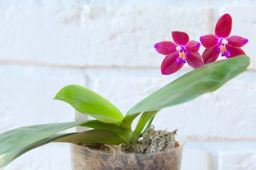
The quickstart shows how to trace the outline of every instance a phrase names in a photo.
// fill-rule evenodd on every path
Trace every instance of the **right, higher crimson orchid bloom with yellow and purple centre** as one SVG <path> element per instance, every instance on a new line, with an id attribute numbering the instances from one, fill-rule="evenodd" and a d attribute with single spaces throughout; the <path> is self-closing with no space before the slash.
<path id="1" fill-rule="evenodd" d="M 225 56 L 227 58 L 245 55 L 240 48 L 247 44 L 246 38 L 233 35 L 230 36 L 232 29 L 232 17 L 230 14 L 222 15 L 215 26 L 215 35 L 207 34 L 200 37 L 201 44 L 206 48 L 202 57 L 204 64 L 216 61 L 219 57 Z"/>

